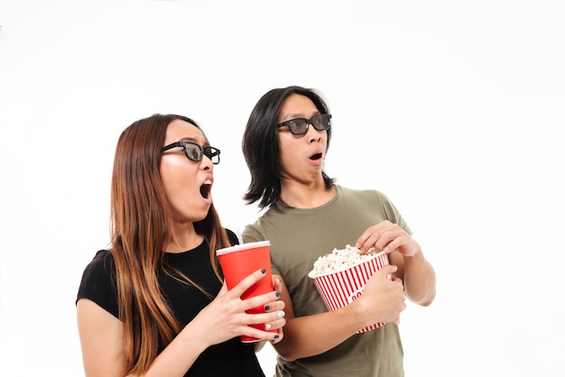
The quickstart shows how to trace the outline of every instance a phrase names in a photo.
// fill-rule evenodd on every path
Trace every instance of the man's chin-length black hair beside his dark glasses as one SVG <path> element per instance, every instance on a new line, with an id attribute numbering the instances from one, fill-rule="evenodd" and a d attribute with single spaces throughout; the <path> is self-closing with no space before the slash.
<path id="1" fill-rule="evenodd" d="M 242 142 L 245 162 L 251 173 L 251 183 L 244 195 L 247 204 L 260 200 L 259 207 L 263 209 L 281 198 L 281 152 L 276 124 L 282 102 L 292 94 L 310 98 L 320 114 L 329 114 L 329 106 L 316 89 L 297 86 L 274 88 L 259 99 L 249 115 Z M 331 128 L 327 133 L 329 146 Z M 329 178 L 324 170 L 322 177 L 329 189 L 335 179 Z"/>

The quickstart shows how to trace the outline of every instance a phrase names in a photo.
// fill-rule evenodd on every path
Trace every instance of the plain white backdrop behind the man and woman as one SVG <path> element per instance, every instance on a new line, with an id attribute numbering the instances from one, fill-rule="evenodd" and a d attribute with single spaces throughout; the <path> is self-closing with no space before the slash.
<path id="1" fill-rule="evenodd" d="M 328 98 L 329 175 L 389 196 L 437 271 L 403 313 L 407 376 L 563 375 L 564 19 L 559 0 L 0 0 L 0 375 L 83 375 L 75 298 L 125 126 L 198 121 L 240 232 L 247 116 L 294 84 Z"/>

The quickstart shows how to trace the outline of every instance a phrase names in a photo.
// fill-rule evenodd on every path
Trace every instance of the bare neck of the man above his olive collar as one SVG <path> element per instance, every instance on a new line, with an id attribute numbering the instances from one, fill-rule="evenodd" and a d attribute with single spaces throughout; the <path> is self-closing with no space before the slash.
<path id="1" fill-rule="evenodd" d="M 336 196 L 336 188 L 326 189 L 324 179 L 303 183 L 296 180 L 281 180 L 281 200 L 294 208 L 315 208 L 329 202 Z"/>

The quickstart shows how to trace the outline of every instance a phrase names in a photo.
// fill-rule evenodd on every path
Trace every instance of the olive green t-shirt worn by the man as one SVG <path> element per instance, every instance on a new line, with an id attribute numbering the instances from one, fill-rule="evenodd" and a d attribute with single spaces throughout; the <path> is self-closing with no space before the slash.
<path id="1" fill-rule="evenodd" d="M 308 277 L 320 255 L 355 245 L 366 228 L 389 220 L 408 233 L 392 202 L 375 190 L 354 190 L 336 185 L 337 194 L 323 206 L 292 208 L 275 203 L 255 224 L 247 225 L 245 243 L 271 243 L 273 274 L 280 274 L 290 292 L 296 317 L 327 311 Z M 267 373 L 268 374 L 268 373 Z M 329 351 L 293 362 L 277 357 L 276 376 L 384 376 L 401 377 L 403 346 L 398 326 L 387 324 L 351 336 Z"/>

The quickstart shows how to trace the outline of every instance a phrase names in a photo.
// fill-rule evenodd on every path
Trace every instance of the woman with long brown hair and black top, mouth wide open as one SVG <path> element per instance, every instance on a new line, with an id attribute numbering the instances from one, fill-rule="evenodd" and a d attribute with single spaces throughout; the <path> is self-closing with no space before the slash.
<path id="1" fill-rule="evenodd" d="M 153 115 L 121 134 L 111 189 L 111 245 L 88 264 L 77 315 L 87 376 L 264 376 L 255 356 L 282 339 L 284 304 L 275 291 L 241 294 L 222 284 L 216 250 L 237 243 L 212 204 L 219 150 L 199 125 Z M 265 266 L 266 267 L 266 266 Z M 264 305 L 266 313 L 245 310 Z M 250 324 L 265 323 L 277 334 Z"/>

